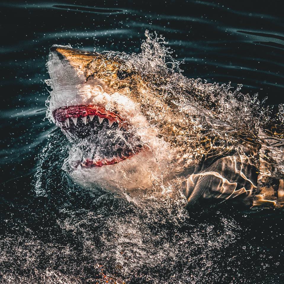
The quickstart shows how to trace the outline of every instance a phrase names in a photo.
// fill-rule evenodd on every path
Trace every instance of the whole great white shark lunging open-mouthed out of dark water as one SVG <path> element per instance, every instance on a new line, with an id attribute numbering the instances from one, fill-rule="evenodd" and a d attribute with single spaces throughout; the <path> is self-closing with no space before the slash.
<path id="1" fill-rule="evenodd" d="M 252 111 L 225 118 L 224 96 L 216 98 L 224 86 L 188 79 L 174 60 L 157 58 L 154 66 L 137 55 L 50 48 L 48 115 L 71 143 L 70 177 L 129 200 L 167 192 L 182 193 L 188 208 L 283 207 L 284 179 L 269 161 L 282 155 L 282 133 L 247 127 Z"/>

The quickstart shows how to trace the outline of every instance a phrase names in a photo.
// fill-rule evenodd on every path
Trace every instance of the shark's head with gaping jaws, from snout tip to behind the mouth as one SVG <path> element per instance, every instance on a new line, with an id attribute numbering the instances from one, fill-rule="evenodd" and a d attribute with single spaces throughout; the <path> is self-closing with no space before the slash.
<path id="1" fill-rule="evenodd" d="M 177 116 L 174 98 L 153 88 L 170 74 L 149 76 L 123 56 L 64 46 L 50 49 L 47 66 L 51 119 L 74 145 L 71 177 L 132 192 L 157 180 L 165 185 L 181 170 L 186 147 L 178 137 L 188 117 Z"/>

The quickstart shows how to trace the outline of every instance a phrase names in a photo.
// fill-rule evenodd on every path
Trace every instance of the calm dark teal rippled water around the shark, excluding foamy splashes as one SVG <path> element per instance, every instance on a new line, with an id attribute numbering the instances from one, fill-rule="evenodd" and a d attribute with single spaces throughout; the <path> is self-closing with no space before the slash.
<path id="1" fill-rule="evenodd" d="M 63 202 L 73 202 L 76 209 L 76 200 L 80 198 L 86 202 L 80 206 L 91 206 L 83 193 L 83 197 L 57 195 L 55 199 L 60 201 L 52 206 L 50 199 L 34 197 L 31 181 L 38 169 L 35 158 L 50 141 L 50 134 L 57 131 L 44 120 L 49 95 L 44 83 L 49 78 L 45 64 L 50 46 L 71 44 L 90 51 L 96 48 L 139 53 L 145 30 L 157 31 L 169 42 L 174 58 L 184 60 L 181 68 L 185 76 L 208 82 L 231 81 L 232 86 L 243 84 L 243 92 L 259 93 L 260 99 L 268 97 L 267 104 L 278 105 L 284 102 L 283 10 L 283 1 L 1 2 L 1 252 L 7 249 L 7 235 L 13 235 L 14 241 L 15 236 L 24 239 L 27 227 L 33 231 L 33 238 L 47 238 L 49 242 L 57 239 L 66 245 L 66 236 L 52 227 L 61 214 L 56 208 Z M 57 171 L 59 176 L 60 170 Z M 53 188 L 57 186 L 53 184 Z M 245 219 L 244 213 L 235 215 L 242 225 L 241 233 L 237 246 L 222 251 L 223 261 L 227 261 L 226 255 L 237 255 L 240 264 L 236 265 L 249 283 L 272 283 L 272 279 L 273 283 L 283 283 L 283 214 L 257 212 Z M 200 218 L 197 223 L 210 216 Z M 73 242 L 79 246 L 76 239 Z M 250 244 L 255 247 L 251 259 L 250 252 L 241 249 Z M 266 251 L 261 257 L 265 255 L 264 264 L 269 264 L 265 268 L 272 275 L 269 280 L 265 280 L 268 270 L 261 264 L 260 253 L 256 253 L 258 247 Z M 270 255 L 273 259 L 269 259 Z M 11 268 L 5 264 L 7 270 L 18 271 L 15 267 L 22 262 L 15 263 Z M 227 275 L 226 270 L 222 275 Z M 230 277 L 216 279 L 229 283 L 233 279 Z M 254 282 L 254 278 L 259 282 Z"/>

